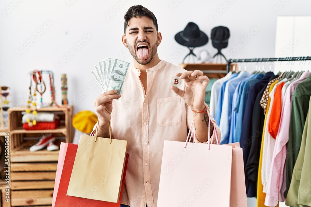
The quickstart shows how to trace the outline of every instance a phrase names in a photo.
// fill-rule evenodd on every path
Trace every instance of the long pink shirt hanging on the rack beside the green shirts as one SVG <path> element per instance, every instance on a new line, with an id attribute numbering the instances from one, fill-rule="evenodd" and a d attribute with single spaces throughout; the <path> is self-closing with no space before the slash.
<path id="1" fill-rule="evenodd" d="M 278 201 L 285 201 L 286 178 L 283 177 L 283 173 L 285 173 L 284 165 L 287 154 L 286 144 L 289 139 L 291 98 L 298 83 L 305 80 L 309 74 L 310 72 L 304 72 L 298 80 L 290 83 L 285 92 L 280 127 L 276 135 L 276 143 L 272 156 L 272 165 L 265 199 L 266 206 L 276 206 Z"/>

